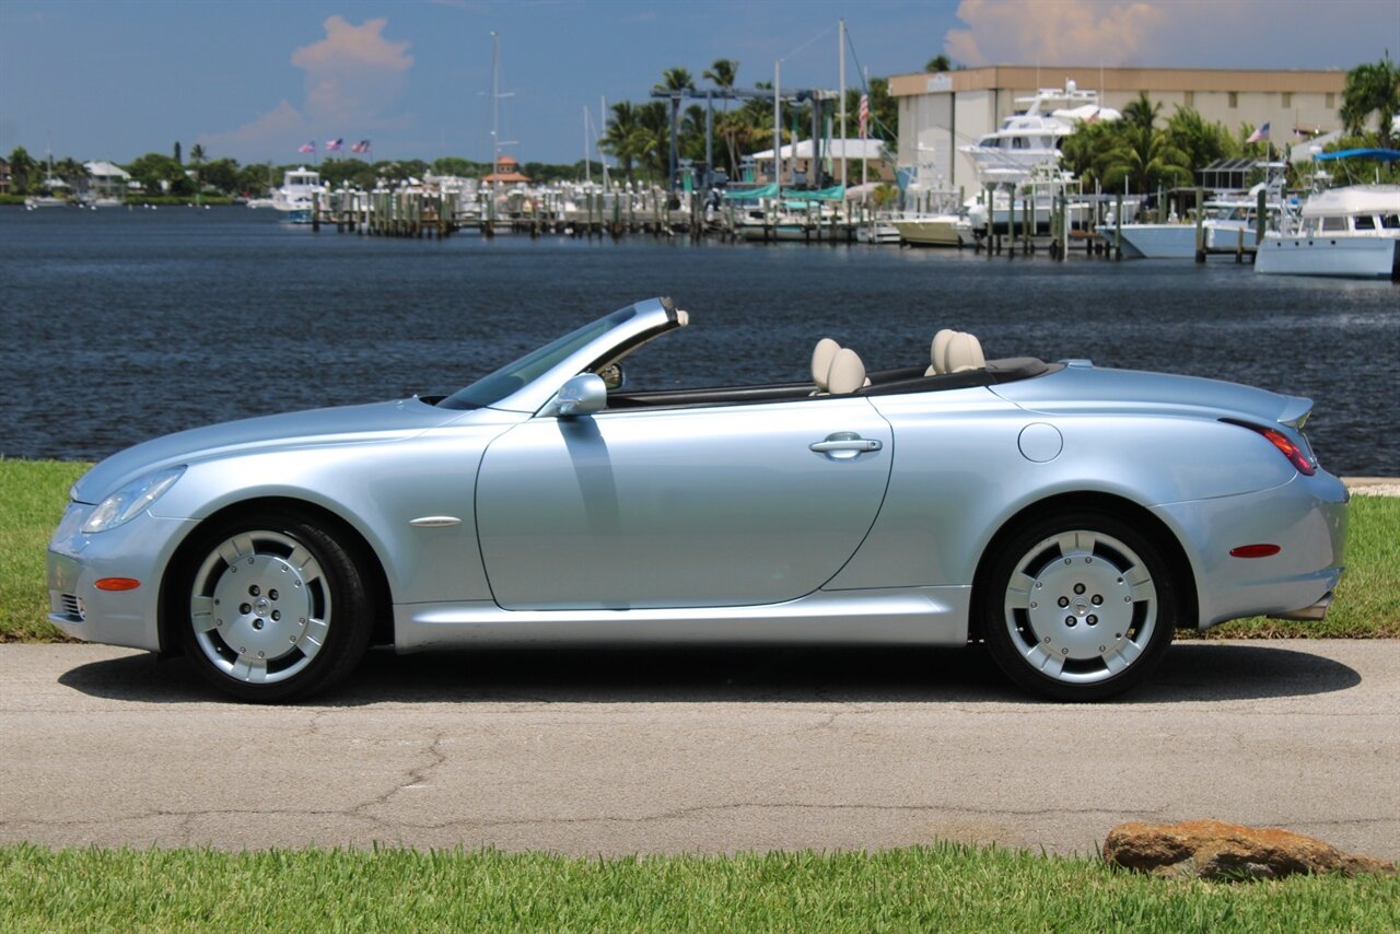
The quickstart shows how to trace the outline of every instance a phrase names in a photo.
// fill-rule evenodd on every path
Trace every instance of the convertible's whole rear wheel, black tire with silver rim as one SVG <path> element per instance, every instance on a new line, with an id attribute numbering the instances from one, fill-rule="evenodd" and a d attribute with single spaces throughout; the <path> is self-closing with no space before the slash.
<path id="1" fill-rule="evenodd" d="M 1156 543 L 1107 513 L 1061 511 L 998 546 L 981 633 L 1014 682 L 1053 700 L 1103 700 L 1152 674 L 1176 629 L 1177 587 Z"/>

